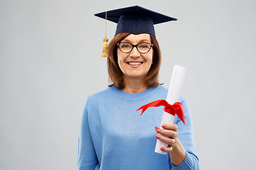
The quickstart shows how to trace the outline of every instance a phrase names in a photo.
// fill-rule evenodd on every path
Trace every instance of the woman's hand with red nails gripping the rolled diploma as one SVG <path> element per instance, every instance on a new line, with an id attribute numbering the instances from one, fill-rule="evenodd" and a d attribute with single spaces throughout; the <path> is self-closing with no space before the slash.
<path id="1" fill-rule="evenodd" d="M 156 135 L 157 139 L 168 145 L 168 147 L 161 147 L 161 150 L 169 152 L 172 164 L 178 166 L 186 157 L 186 151 L 178 138 L 178 127 L 175 124 L 163 124 L 162 128 L 155 127 L 155 131 L 159 133 Z"/>

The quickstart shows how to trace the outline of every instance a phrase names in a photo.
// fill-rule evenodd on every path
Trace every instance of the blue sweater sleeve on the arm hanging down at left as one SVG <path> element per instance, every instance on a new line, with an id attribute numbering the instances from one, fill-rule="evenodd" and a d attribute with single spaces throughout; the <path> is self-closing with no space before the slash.
<path id="1" fill-rule="evenodd" d="M 95 169 L 97 164 L 98 164 L 98 159 L 96 157 L 94 143 L 91 139 L 88 111 L 87 111 L 87 102 L 86 102 L 84 104 L 84 109 L 82 112 L 80 132 L 79 132 L 77 170 Z"/>

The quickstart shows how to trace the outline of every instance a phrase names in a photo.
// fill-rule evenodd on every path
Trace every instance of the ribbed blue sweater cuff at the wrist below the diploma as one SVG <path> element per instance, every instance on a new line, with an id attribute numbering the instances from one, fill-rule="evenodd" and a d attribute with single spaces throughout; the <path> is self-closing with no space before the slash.
<path id="1" fill-rule="evenodd" d="M 179 164 L 178 166 L 174 166 L 174 164 L 172 164 L 173 169 L 175 170 L 199 169 L 198 161 L 196 160 L 197 162 L 196 164 L 194 159 L 196 159 L 194 155 L 186 151 L 186 157 L 184 159 L 184 162 L 182 162 L 182 164 Z"/>

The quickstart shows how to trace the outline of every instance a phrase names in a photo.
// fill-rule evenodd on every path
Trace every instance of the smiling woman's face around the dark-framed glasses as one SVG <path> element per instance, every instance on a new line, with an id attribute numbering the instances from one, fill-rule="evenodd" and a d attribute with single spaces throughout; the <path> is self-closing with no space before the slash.
<path id="1" fill-rule="evenodd" d="M 149 42 L 151 39 L 149 34 L 130 34 L 124 38 L 121 42 L 130 42 L 133 45 L 137 45 L 140 42 Z M 118 65 L 124 74 L 124 79 L 140 79 L 148 73 L 152 64 L 152 48 L 147 53 L 138 52 L 136 47 L 129 53 L 121 52 L 118 48 Z"/>

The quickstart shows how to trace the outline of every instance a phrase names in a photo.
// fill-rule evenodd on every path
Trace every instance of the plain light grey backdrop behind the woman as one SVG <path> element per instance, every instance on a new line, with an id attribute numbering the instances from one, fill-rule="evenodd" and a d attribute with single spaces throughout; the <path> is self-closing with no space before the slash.
<path id="1" fill-rule="evenodd" d="M 201 169 L 254 167 L 256 1 L 0 3 L 0 169 L 76 169 L 82 106 L 108 85 L 105 22 L 93 14 L 133 5 L 179 19 L 155 26 L 160 82 L 187 67 Z"/>

